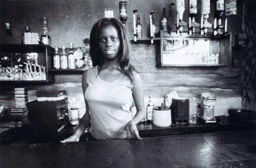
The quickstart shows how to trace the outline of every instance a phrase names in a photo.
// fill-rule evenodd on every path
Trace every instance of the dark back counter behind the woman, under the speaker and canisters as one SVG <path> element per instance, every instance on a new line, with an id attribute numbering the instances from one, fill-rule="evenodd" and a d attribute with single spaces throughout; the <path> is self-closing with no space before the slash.
<path id="1" fill-rule="evenodd" d="M 210 133 L 210 132 L 222 132 L 222 131 L 235 131 L 235 130 L 255 130 L 256 119 L 252 120 L 235 120 L 229 116 L 217 116 L 218 123 L 216 124 L 204 124 L 198 122 L 197 125 L 171 125 L 169 127 L 157 127 L 151 122 L 142 122 L 137 125 L 139 134 L 142 138 L 145 137 L 157 137 L 168 135 L 185 135 L 196 133 Z M 7 143 L 48 143 L 59 142 L 62 139 L 69 137 L 74 130 L 75 126 L 71 124 L 67 125 L 61 132 L 56 134 L 31 134 L 29 125 L 23 129 L 18 130 L 16 133 L 12 129 L 9 133 L 2 136 L 0 144 Z M 84 132 L 80 141 L 93 140 L 90 128 Z"/>

